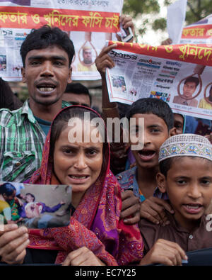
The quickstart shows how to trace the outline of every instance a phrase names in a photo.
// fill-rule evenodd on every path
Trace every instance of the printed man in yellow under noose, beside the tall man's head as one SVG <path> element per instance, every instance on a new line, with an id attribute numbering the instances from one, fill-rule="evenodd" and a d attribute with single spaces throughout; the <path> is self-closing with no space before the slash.
<path id="1" fill-rule="evenodd" d="M 93 62 L 92 48 L 90 45 L 83 47 L 83 60 L 78 63 L 77 69 L 79 72 L 97 71 Z"/>

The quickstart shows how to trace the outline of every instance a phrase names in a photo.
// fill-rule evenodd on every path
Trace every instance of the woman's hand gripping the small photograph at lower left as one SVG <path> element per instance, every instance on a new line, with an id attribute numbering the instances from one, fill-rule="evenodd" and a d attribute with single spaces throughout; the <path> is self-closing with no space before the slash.
<path id="1" fill-rule="evenodd" d="M 22 264 L 26 254 L 25 248 L 29 243 L 27 228 L 18 228 L 16 224 L 4 225 L 4 230 L 0 231 L 1 262 Z"/>

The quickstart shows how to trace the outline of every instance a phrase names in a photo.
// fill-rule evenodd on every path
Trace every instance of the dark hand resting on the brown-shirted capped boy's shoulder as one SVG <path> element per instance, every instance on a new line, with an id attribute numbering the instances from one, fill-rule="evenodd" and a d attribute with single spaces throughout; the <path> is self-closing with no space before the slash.
<path id="1" fill-rule="evenodd" d="M 150 220 L 152 223 L 160 225 L 168 225 L 170 222 L 167 219 L 165 210 L 171 214 L 175 213 L 169 203 L 162 198 L 151 196 L 141 203 L 140 215 L 141 218 Z"/>

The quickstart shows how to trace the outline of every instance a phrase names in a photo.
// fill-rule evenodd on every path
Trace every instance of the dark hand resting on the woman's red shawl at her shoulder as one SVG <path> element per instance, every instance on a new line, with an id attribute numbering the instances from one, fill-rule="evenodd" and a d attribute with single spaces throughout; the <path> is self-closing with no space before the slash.
<path id="1" fill-rule="evenodd" d="M 139 223 L 140 207 L 139 198 L 134 195 L 133 191 L 122 192 L 122 212 L 120 218 L 124 219 L 124 223 L 130 225 Z M 129 216 L 131 217 L 129 218 Z"/>

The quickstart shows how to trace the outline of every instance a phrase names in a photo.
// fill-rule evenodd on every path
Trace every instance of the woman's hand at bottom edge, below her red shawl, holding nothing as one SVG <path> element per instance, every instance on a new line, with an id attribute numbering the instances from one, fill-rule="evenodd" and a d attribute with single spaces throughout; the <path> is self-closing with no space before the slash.
<path id="1" fill-rule="evenodd" d="M 63 266 L 105 266 L 105 264 L 93 254 L 87 247 L 81 247 L 66 257 Z"/>

